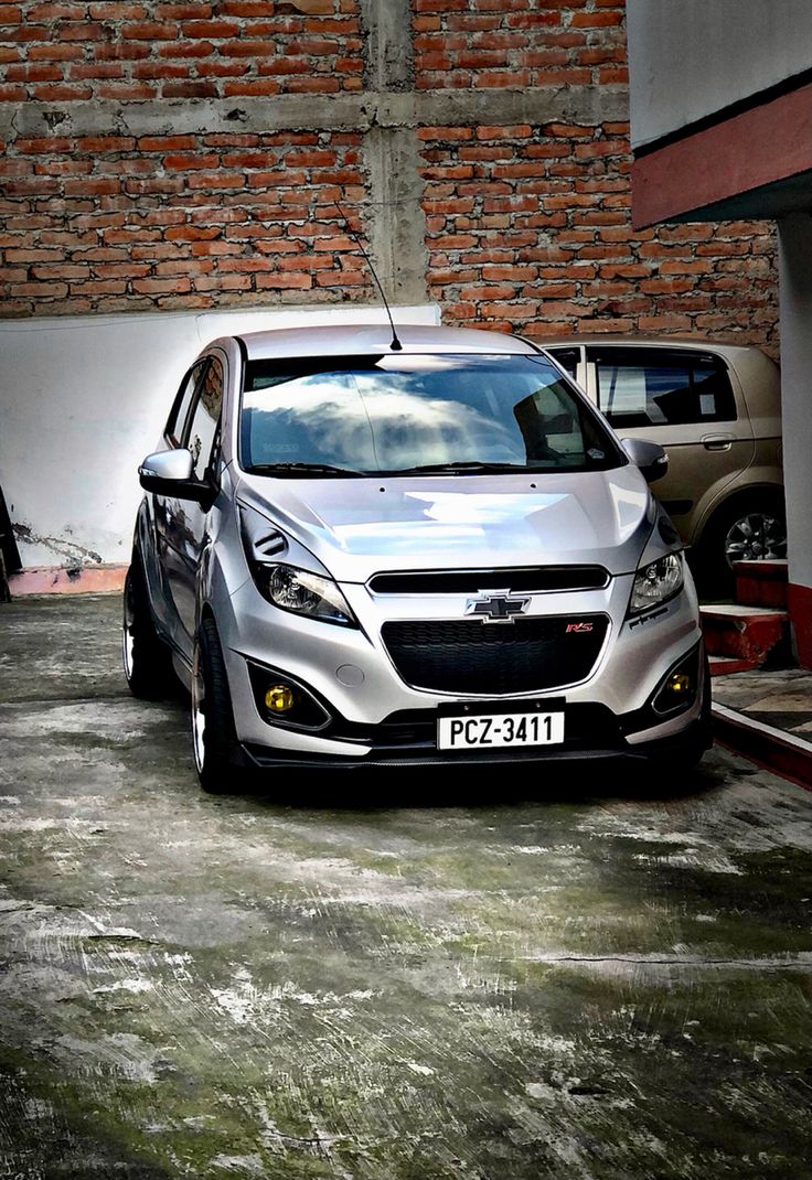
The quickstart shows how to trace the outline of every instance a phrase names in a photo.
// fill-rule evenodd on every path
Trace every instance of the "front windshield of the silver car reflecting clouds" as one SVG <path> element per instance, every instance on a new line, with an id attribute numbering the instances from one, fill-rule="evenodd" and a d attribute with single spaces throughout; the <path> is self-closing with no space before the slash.
<path id="1" fill-rule="evenodd" d="M 509 353 L 250 361 L 240 445 L 245 471 L 300 478 L 626 461 L 544 356 Z"/>

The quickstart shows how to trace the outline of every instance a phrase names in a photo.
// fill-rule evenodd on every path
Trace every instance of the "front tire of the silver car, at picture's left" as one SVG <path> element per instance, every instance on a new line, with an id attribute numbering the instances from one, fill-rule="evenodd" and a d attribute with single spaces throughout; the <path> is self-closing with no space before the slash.
<path id="1" fill-rule="evenodd" d="M 204 618 L 195 643 L 191 683 L 191 738 L 201 786 L 228 794 L 240 781 L 233 756 L 236 742 L 231 694 L 214 618 Z"/>

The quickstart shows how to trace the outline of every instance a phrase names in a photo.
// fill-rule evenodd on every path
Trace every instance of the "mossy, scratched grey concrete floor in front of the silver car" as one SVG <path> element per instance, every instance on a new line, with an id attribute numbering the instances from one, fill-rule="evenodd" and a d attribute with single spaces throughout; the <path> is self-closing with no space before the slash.
<path id="1" fill-rule="evenodd" d="M 812 794 L 207 798 L 118 615 L 0 607 L 0 1178 L 812 1176 Z"/>

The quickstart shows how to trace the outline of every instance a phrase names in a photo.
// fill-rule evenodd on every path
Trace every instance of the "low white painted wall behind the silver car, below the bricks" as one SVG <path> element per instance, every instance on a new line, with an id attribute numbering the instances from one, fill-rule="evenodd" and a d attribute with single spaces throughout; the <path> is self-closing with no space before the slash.
<path id="1" fill-rule="evenodd" d="M 398 307 L 439 323 L 437 304 Z M 175 392 L 217 336 L 362 323 L 382 308 L 256 309 L 0 320 L 0 485 L 25 566 L 126 563 L 142 490 Z"/>

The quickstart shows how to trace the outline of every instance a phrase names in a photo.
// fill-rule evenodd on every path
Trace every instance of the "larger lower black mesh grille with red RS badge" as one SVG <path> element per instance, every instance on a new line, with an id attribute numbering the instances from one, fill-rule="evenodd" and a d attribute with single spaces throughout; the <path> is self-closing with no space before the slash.
<path id="1" fill-rule="evenodd" d="M 515 623 L 388 622 L 381 637 L 398 673 L 414 688 L 504 696 L 585 680 L 608 627 L 605 615 Z"/>

